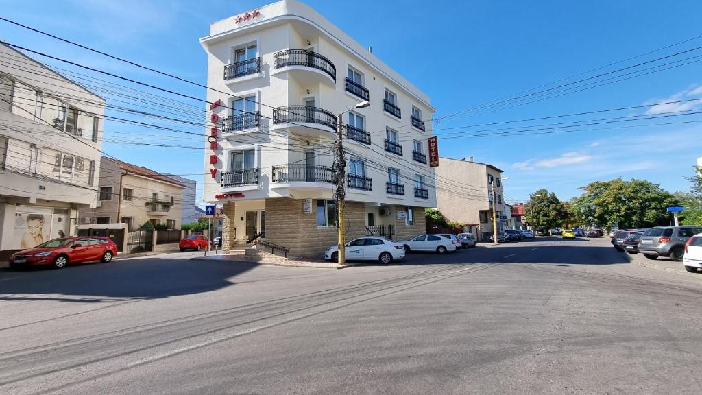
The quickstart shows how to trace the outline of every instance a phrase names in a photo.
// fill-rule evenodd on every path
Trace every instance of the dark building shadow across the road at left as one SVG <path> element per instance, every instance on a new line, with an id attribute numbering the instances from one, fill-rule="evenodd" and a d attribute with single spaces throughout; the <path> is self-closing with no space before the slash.
<path id="1" fill-rule="evenodd" d="M 158 299 L 210 292 L 234 285 L 229 279 L 257 264 L 199 262 L 190 259 L 130 259 L 109 264 L 67 266 L 60 270 L 13 271 L 11 280 L 0 283 L 2 300 L 55 300 L 102 302 L 100 297 Z M 84 296 L 56 297 L 53 294 Z M 36 295 L 36 296 L 29 296 Z"/>

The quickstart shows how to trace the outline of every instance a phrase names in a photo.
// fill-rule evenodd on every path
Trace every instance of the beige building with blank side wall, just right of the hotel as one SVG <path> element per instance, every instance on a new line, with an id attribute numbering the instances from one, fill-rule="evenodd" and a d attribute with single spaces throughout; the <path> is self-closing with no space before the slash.
<path id="1" fill-rule="evenodd" d="M 498 231 L 508 228 L 511 212 L 503 198 L 502 170 L 475 162 L 472 157 L 439 157 L 436 169 L 437 178 L 451 179 L 464 188 L 463 192 L 456 188 L 437 189 L 437 207 L 447 220 L 463 224 L 465 231 L 486 241 L 493 233 L 494 205 Z"/>

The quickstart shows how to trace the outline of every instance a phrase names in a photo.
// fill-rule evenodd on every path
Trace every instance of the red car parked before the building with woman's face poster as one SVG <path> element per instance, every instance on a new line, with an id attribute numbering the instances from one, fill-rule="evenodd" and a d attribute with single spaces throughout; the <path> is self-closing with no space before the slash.
<path id="1" fill-rule="evenodd" d="M 110 238 L 74 236 L 44 242 L 37 247 L 15 252 L 10 267 L 48 266 L 62 268 L 67 264 L 89 261 L 112 261 L 117 256 L 117 245 Z"/>

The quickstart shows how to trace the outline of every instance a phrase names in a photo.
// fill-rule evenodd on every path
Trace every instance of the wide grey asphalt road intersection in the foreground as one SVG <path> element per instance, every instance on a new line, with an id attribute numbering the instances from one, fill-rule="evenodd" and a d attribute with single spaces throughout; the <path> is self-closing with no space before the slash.
<path id="1" fill-rule="evenodd" d="M 699 394 L 702 273 L 607 238 L 0 271 L 0 394 Z"/>

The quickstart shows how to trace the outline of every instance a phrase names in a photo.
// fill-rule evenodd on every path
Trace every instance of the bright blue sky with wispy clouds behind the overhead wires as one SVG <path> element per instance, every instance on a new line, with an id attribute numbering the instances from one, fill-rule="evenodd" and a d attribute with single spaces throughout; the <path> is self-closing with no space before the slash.
<path id="1" fill-rule="evenodd" d="M 207 34 L 208 24 L 268 3 L 270 1 L 198 1 L 197 5 L 191 1 L 39 1 L 37 6 L 37 2 L 0 1 L 3 10 L 0 15 L 204 84 L 206 56 L 198 39 Z M 352 6 L 349 3 L 342 6 L 337 1 L 307 1 L 307 4 L 360 44 L 373 46 L 373 53 L 428 93 L 438 109 L 437 117 L 475 108 L 702 34 L 698 28 L 698 17 L 702 15 L 700 1 L 432 1 L 430 7 L 425 1 L 357 0 Z M 353 12 L 349 11 L 351 8 Z M 0 37 L 12 44 L 204 97 L 204 89 L 197 86 L 60 44 L 6 22 L 0 22 Z M 696 46 L 702 46 L 702 39 L 600 72 Z M 701 53 L 695 51 L 687 56 Z M 47 63 L 67 67 L 53 61 Z M 687 190 L 689 182 L 684 177 L 691 174 L 695 158 L 702 156 L 702 138 L 698 137 L 702 124 L 640 125 L 702 120 L 699 115 L 572 128 L 610 128 L 605 130 L 522 136 L 466 138 L 465 134 L 529 123 L 447 128 L 702 98 L 701 71 L 702 62 L 693 63 L 535 103 L 489 111 L 473 110 L 444 118 L 435 124 L 435 134 L 441 137 L 461 131 L 464 135 L 442 138 L 439 153 L 447 157 L 472 155 L 476 161 L 500 167 L 509 177 L 505 181 L 505 195 L 510 200 L 525 200 L 538 188 L 554 190 L 560 198 L 569 199 L 579 195 L 579 186 L 618 176 L 648 179 L 671 191 Z M 178 100 L 204 108 L 194 101 Z M 702 107 L 697 103 L 702 102 L 530 124 Z M 624 125 L 627 128 L 611 129 Z M 203 132 L 198 127 L 178 129 Z M 124 141 L 125 136 L 133 136 L 125 132 L 159 134 L 114 122 L 105 124 L 106 137 Z M 171 144 L 201 145 L 201 139 L 185 135 L 171 134 L 156 139 Z M 144 148 L 113 142 L 104 143 L 103 149 L 127 162 L 157 171 L 189 174 L 188 177 L 199 182 L 199 174 L 204 172 L 201 150 Z"/>

